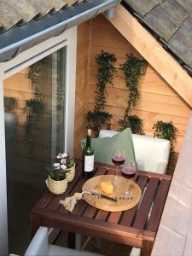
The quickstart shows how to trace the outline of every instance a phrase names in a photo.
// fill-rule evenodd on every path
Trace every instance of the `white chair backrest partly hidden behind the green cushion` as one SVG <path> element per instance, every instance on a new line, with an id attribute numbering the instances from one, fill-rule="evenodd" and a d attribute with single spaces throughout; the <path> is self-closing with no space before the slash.
<path id="1" fill-rule="evenodd" d="M 101 130 L 99 137 L 113 137 L 119 131 Z M 165 173 L 170 154 L 170 141 L 157 137 L 132 134 L 137 168 Z"/>

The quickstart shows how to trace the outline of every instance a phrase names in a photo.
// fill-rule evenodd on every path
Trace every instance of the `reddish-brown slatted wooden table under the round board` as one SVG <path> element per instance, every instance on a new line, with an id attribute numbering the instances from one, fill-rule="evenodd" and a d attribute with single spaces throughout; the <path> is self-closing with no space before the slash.
<path id="1" fill-rule="evenodd" d="M 95 165 L 95 175 L 114 173 L 114 166 Z M 73 182 L 68 183 L 67 191 L 63 195 L 53 195 L 48 191 L 32 209 L 32 234 L 40 225 L 44 225 L 141 247 L 142 255 L 150 255 L 171 177 L 138 171 L 133 180 L 143 191 L 139 208 L 133 207 L 124 212 L 105 212 L 90 207 L 82 200 L 74 207 L 73 212 L 69 213 L 59 201 L 82 189 L 85 180 L 81 177 L 81 162 L 77 162 L 76 176 Z"/>

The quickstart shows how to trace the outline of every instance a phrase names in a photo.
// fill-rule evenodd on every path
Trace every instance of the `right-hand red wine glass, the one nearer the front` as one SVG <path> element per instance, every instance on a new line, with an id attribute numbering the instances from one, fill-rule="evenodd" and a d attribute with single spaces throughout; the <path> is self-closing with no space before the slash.
<path id="1" fill-rule="evenodd" d="M 126 160 L 121 172 L 125 177 L 134 177 L 136 174 L 136 171 L 137 171 L 137 168 L 136 168 L 135 161 Z M 127 199 L 131 199 L 133 197 L 133 192 L 132 192 L 133 189 L 134 189 L 134 184 L 129 183 L 126 186 L 123 196 Z"/>

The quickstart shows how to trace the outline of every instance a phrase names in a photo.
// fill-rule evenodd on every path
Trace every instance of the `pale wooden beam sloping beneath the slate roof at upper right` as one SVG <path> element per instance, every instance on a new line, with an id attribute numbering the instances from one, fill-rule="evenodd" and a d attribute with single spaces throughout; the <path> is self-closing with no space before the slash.
<path id="1" fill-rule="evenodd" d="M 121 4 L 109 21 L 192 107 L 192 79 L 172 55 Z"/>

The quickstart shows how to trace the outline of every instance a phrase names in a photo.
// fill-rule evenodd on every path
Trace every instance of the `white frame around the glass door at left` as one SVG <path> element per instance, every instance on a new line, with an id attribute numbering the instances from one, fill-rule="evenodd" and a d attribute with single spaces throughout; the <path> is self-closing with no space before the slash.
<path id="1" fill-rule="evenodd" d="M 63 47 L 67 47 L 67 70 L 65 84 L 67 107 L 65 113 L 66 127 L 64 148 L 66 152 L 73 154 L 77 27 L 75 26 L 67 30 L 67 32 L 62 33 L 60 36 L 50 38 L 44 43 L 32 47 L 32 49 L 27 49 L 25 52 L 22 52 L 20 55 L 16 56 L 13 60 L 0 63 L 0 138 L 2 140 L 0 143 L 0 255 L 8 255 L 7 178 L 3 80 Z"/>

